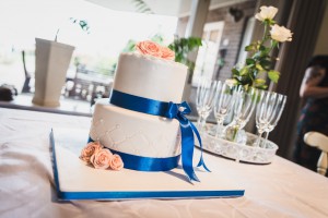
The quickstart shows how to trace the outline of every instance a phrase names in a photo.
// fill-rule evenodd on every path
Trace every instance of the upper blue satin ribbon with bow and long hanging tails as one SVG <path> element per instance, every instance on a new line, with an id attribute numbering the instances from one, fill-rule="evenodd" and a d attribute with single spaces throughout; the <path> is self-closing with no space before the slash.
<path id="1" fill-rule="evenodd" d="M 189 105 L 184 101 L 181 104 L 174 104 L 172 101 L 159 101 L 149 98 L 143 98 L 134 95 L 130 95 L 127 93 L 122 93 L 119 90 L 113 89 L 112 96 L 109 98 L 109 102 L 112 105 L 142 112 L 153 116 L 161 116 L 169 119 L 177 119 L 180 124 L 180 132 L 181 132 L 181 161 L 183 161 L 183 169 L 186 172 L 189 181 L 199 181 L 197 175 L 195 174 L 194 167 L 192 167 L 192 156 L 194 156 L 194 133 L 197 136 L 201 148 L 200 160 L 197 167 L 203 166 L 207 171 L 210 171 L 207 166 L 204 165 L 202 158 L 202 145 L 201 138 L 197 131 L 197 128 L 185 117 L 191 112 Z M 138 157 L 138 156 L 137 156 Z M 143 158 L 143 157 L 140 157 Z M 130 158 L 129 158 L 130 160 Z M 127 161 L 128 164 L 129 161 Z M 126 165 L 126 162 L 125 162 Z M 129 164 L 128 164 L 129 165 Z M 149 167 L 152 168 L 152 167 Z M 151 171 L 151 170 L 150 170 Z"/>

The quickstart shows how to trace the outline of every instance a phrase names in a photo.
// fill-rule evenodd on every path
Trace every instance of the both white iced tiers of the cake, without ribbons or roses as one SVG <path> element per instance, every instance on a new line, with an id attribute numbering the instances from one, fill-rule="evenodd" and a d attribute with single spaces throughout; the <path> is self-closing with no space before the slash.
<path id="1" fill-rule="evenodd" d="M 140 53 L 121 53 L 113 90 L 165 102 L 180 102 L 187 66 Z M 110 97 L 109 97 L 110 99 Z M 180 154 L 180 129 L 175 119 L 137 112 L 102 99 L 95 104 L 90 137 L 105 147 L 140 157 Z M 129 102 L 133 104 L 133 102 Z"/>

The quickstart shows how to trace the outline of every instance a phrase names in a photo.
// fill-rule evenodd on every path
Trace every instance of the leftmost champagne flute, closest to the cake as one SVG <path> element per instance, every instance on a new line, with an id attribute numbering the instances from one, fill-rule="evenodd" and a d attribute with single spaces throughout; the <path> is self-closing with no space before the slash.
<path id="1" fill-rule="evenodd" d="M 203 126 L 206 125 L 206 121 L 213 109 L 216 88 L 218 88 L 218 82 L 207 77 L 202 77 L 198 83 L 197 96 L 196 96 L 196 108 L 199 114 L 197 121 L 199 132 L 202 131 Z"/>

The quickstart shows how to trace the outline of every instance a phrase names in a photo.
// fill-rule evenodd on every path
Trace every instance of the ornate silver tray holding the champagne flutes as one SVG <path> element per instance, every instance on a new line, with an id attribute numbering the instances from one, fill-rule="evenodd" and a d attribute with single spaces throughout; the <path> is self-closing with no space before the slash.
<path id="1" fill-rule="evenodd" d="M 266 147 L 253 146 L 257 135 L 248 132 L 246 132 L 246 145 L 216 138 L 210 135 L 208 132 L 202 132 L 200 135 L 204 150 L 234 159 L 236 161 L 270 164 L 279 148 L 278 145 L 271 141 L 267 141 Z"/>

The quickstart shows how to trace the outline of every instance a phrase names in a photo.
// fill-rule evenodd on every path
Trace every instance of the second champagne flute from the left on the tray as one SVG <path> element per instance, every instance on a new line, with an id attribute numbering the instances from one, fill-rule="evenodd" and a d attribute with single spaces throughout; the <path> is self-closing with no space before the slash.
<path id="1" fill-rule="evenodd" d="M 215 137 L 222 137 L 223 121 L 233 108 L 235 100 L 233 87 L 224 82 L 218 81 L 218 89 L 214 98 L 214 117 L 216 119 Z"/>

